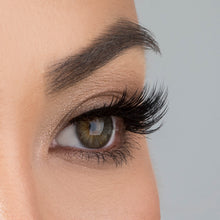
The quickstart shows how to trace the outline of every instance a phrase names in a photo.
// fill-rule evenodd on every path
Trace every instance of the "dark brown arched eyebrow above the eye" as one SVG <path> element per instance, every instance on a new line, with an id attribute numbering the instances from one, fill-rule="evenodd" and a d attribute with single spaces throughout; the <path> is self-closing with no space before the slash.
<path id="1" fill-rule="evenodd" d="M 119 19 L 79 53 L 53 63 L 46 71 L 46 93 L 71 87 L 134 46 L 160 53 L 152 33 L 132 21 Z"/>

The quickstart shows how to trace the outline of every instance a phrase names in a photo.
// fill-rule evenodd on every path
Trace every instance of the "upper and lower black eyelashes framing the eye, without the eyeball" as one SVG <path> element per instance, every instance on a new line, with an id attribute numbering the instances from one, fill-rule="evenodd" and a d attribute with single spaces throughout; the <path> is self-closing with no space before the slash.
<path id="1" fill-rule="evenodd" d="M 112 97 L 109 105 L 101 108 L 93 109 L 73 118 L 68 122 L 72 124 L 83 118 L 116 116 L 123 119 L 125 127 L 125 137 L 120 146 L 113 146 L 111 149 L 103 149 L 99 151 L 87 151 L 81 149 L 72 149 L 69 147 L 50 148 L 53 153 L 63 153 L 67 160 L 71 160 L 73 156 L 79 156 L 80 159 L 95 159 L 98 163 L 114 162 L 116 166 L 126 164 L 128 158 L 133 158 L 132 150 L 136 148 L 138 141 L 134 136 L 131 137 L 129 132 L 149 135 L 158 130 L 162 124 L 156 126 L 163 118 L 168 109 L 167 104 L 168 91 L 163 86 L 149 87 L 145 85 L 141 92 L 135 91 L 133 95 L 129 95 L 124 90 L 121 97 Z M 156 127 L 155 127 L 156 126 Z"/>

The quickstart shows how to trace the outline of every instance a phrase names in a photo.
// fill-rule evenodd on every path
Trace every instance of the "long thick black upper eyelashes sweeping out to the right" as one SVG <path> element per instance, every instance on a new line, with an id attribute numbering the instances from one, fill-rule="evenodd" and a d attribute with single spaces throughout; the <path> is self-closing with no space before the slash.
<path id="1" fill-rule="evenodd" d="M 88 111 L 70 123 L 83 118 L 117 116 L 124 120 L 127 131 L 138 134 L 151 134 L 158 130 L 162 124 L 153 128 L 166 114 L 168 91 L 163 86 L 152 88 L 145 85 L 141 92 L 137 90 L 129 97 L 125 90 L 120 98 L 113 97 L 109 105 Z"/>

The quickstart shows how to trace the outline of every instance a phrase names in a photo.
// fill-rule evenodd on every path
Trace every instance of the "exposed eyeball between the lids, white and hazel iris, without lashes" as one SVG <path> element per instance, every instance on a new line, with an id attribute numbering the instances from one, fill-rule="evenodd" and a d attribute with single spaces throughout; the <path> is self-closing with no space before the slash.
<path id="1" fill-rule="evenodd" d="M 102 149 L 116 142 L 122 120 L 114 116 L 90 117 L 75 120 L 65 127 L 53 141 L 53 147 L 64 146 L 76 149 Z"/>

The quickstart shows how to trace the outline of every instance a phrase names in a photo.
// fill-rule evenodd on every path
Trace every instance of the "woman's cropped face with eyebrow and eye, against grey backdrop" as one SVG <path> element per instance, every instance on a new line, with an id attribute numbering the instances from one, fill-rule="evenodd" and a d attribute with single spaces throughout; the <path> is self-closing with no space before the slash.
<path id="1" fill-rule="evenodd" d="M 145 78 L 134 2 L 0 1 L 0 20 L 0 218 L 160 219 L 129 127 Z"/>

